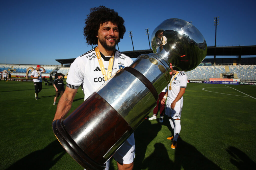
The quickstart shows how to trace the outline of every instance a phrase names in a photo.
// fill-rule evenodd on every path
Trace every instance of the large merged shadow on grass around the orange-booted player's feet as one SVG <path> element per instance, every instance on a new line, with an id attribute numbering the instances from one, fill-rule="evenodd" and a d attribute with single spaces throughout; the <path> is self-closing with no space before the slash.
<path id="1" fill-rule="evenodd" d="M 162 143 L 155 143 L 154 152 L 149 156 L 145 155 L 147 146 L 157 136 L 162 126 L 170 126 L 168 119 L 164 119 L 164 123 L 159 123 L 159 120 L 157 122 L 151 124 L 150 121 L 144 120 L 134 132 L 136 145 L 134 169 L 220 169 L 181 137 L 178 139 L 177 148 L 172 150 L 174 160 L 169 159 L 169 153 Z"/>

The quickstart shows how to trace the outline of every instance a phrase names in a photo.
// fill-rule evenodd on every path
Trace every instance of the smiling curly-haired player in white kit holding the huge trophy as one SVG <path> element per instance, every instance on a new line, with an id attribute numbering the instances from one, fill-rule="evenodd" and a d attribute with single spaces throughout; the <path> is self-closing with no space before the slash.
<path id="1" fill-rule="evenodd" d="M 79 56 L 71 64 L 67 87 L 60 98 L 54 120 L 64 119 L 71 108 L 74 96 L 81 86 L 87 99 L 111 75 L 121 68 L 130 66 L 132 59 L 120 53 L 115 46 L 125 33 L 124 20 L 113 9 L 104 6 L 91 8 L 84 27 L 88 44 L 97 47 Z M 132 134 L 113 155 L 118 169 L 133 168 L 135 141 Z M 106 168 L 109 168 L 109 161 Z"/>

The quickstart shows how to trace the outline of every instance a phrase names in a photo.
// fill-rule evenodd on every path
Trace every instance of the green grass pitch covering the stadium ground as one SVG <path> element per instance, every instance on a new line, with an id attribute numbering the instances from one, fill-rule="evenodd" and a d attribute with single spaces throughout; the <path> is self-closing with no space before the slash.
<path id="1" fill-rule="evenodd" d="M 0 95 L 0 169 L 83 169 L 52 131 L 53 86 L 43 84 L 35 100 L 33 82 L 1 81 Z M 83 98 L 79 88 L 70 113 Z M 254 169 L 255 104 L 256 86 L 188 83 L 177 148 L 166 139 L 167 117 L 144 120 L 134 132 L 134 169 Z"/>

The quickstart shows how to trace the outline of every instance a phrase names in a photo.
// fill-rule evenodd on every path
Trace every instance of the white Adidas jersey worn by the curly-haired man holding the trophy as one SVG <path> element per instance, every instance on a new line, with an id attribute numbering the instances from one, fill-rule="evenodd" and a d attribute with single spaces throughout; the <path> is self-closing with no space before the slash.
<path id="1" fill-rule="evenodd" d="M 107 72 L 110 57 L 105 57 L 102 53 L 101 57 L 103 59 L 105 71 Z M 120 53 L 118 50 L 115 50 L 111 75 L 114 75 L 115 72 L 121 68 L 130 66 L 132 62 L 131 58 Z M 67 87 L 78 89 L 81 85 L 84 92 L 84 99 L 87 99 L 104 82 L 105 79 L 100 70 L 99 61 L 94 49 L 77 57 L 71 64 L 67 77 Z"/>

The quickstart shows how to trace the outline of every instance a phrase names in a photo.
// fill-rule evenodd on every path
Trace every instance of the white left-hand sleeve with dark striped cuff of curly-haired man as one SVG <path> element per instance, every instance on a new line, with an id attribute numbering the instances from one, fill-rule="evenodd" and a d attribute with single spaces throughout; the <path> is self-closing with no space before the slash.
<path id="1" fill-rule="evenodd" d="M 84 79 L 85 64 L 81 60 L 81 57 L 77 57 L 70 66 L 67 77 L 67 87 L 72 89 L 78 89 Z"/>

